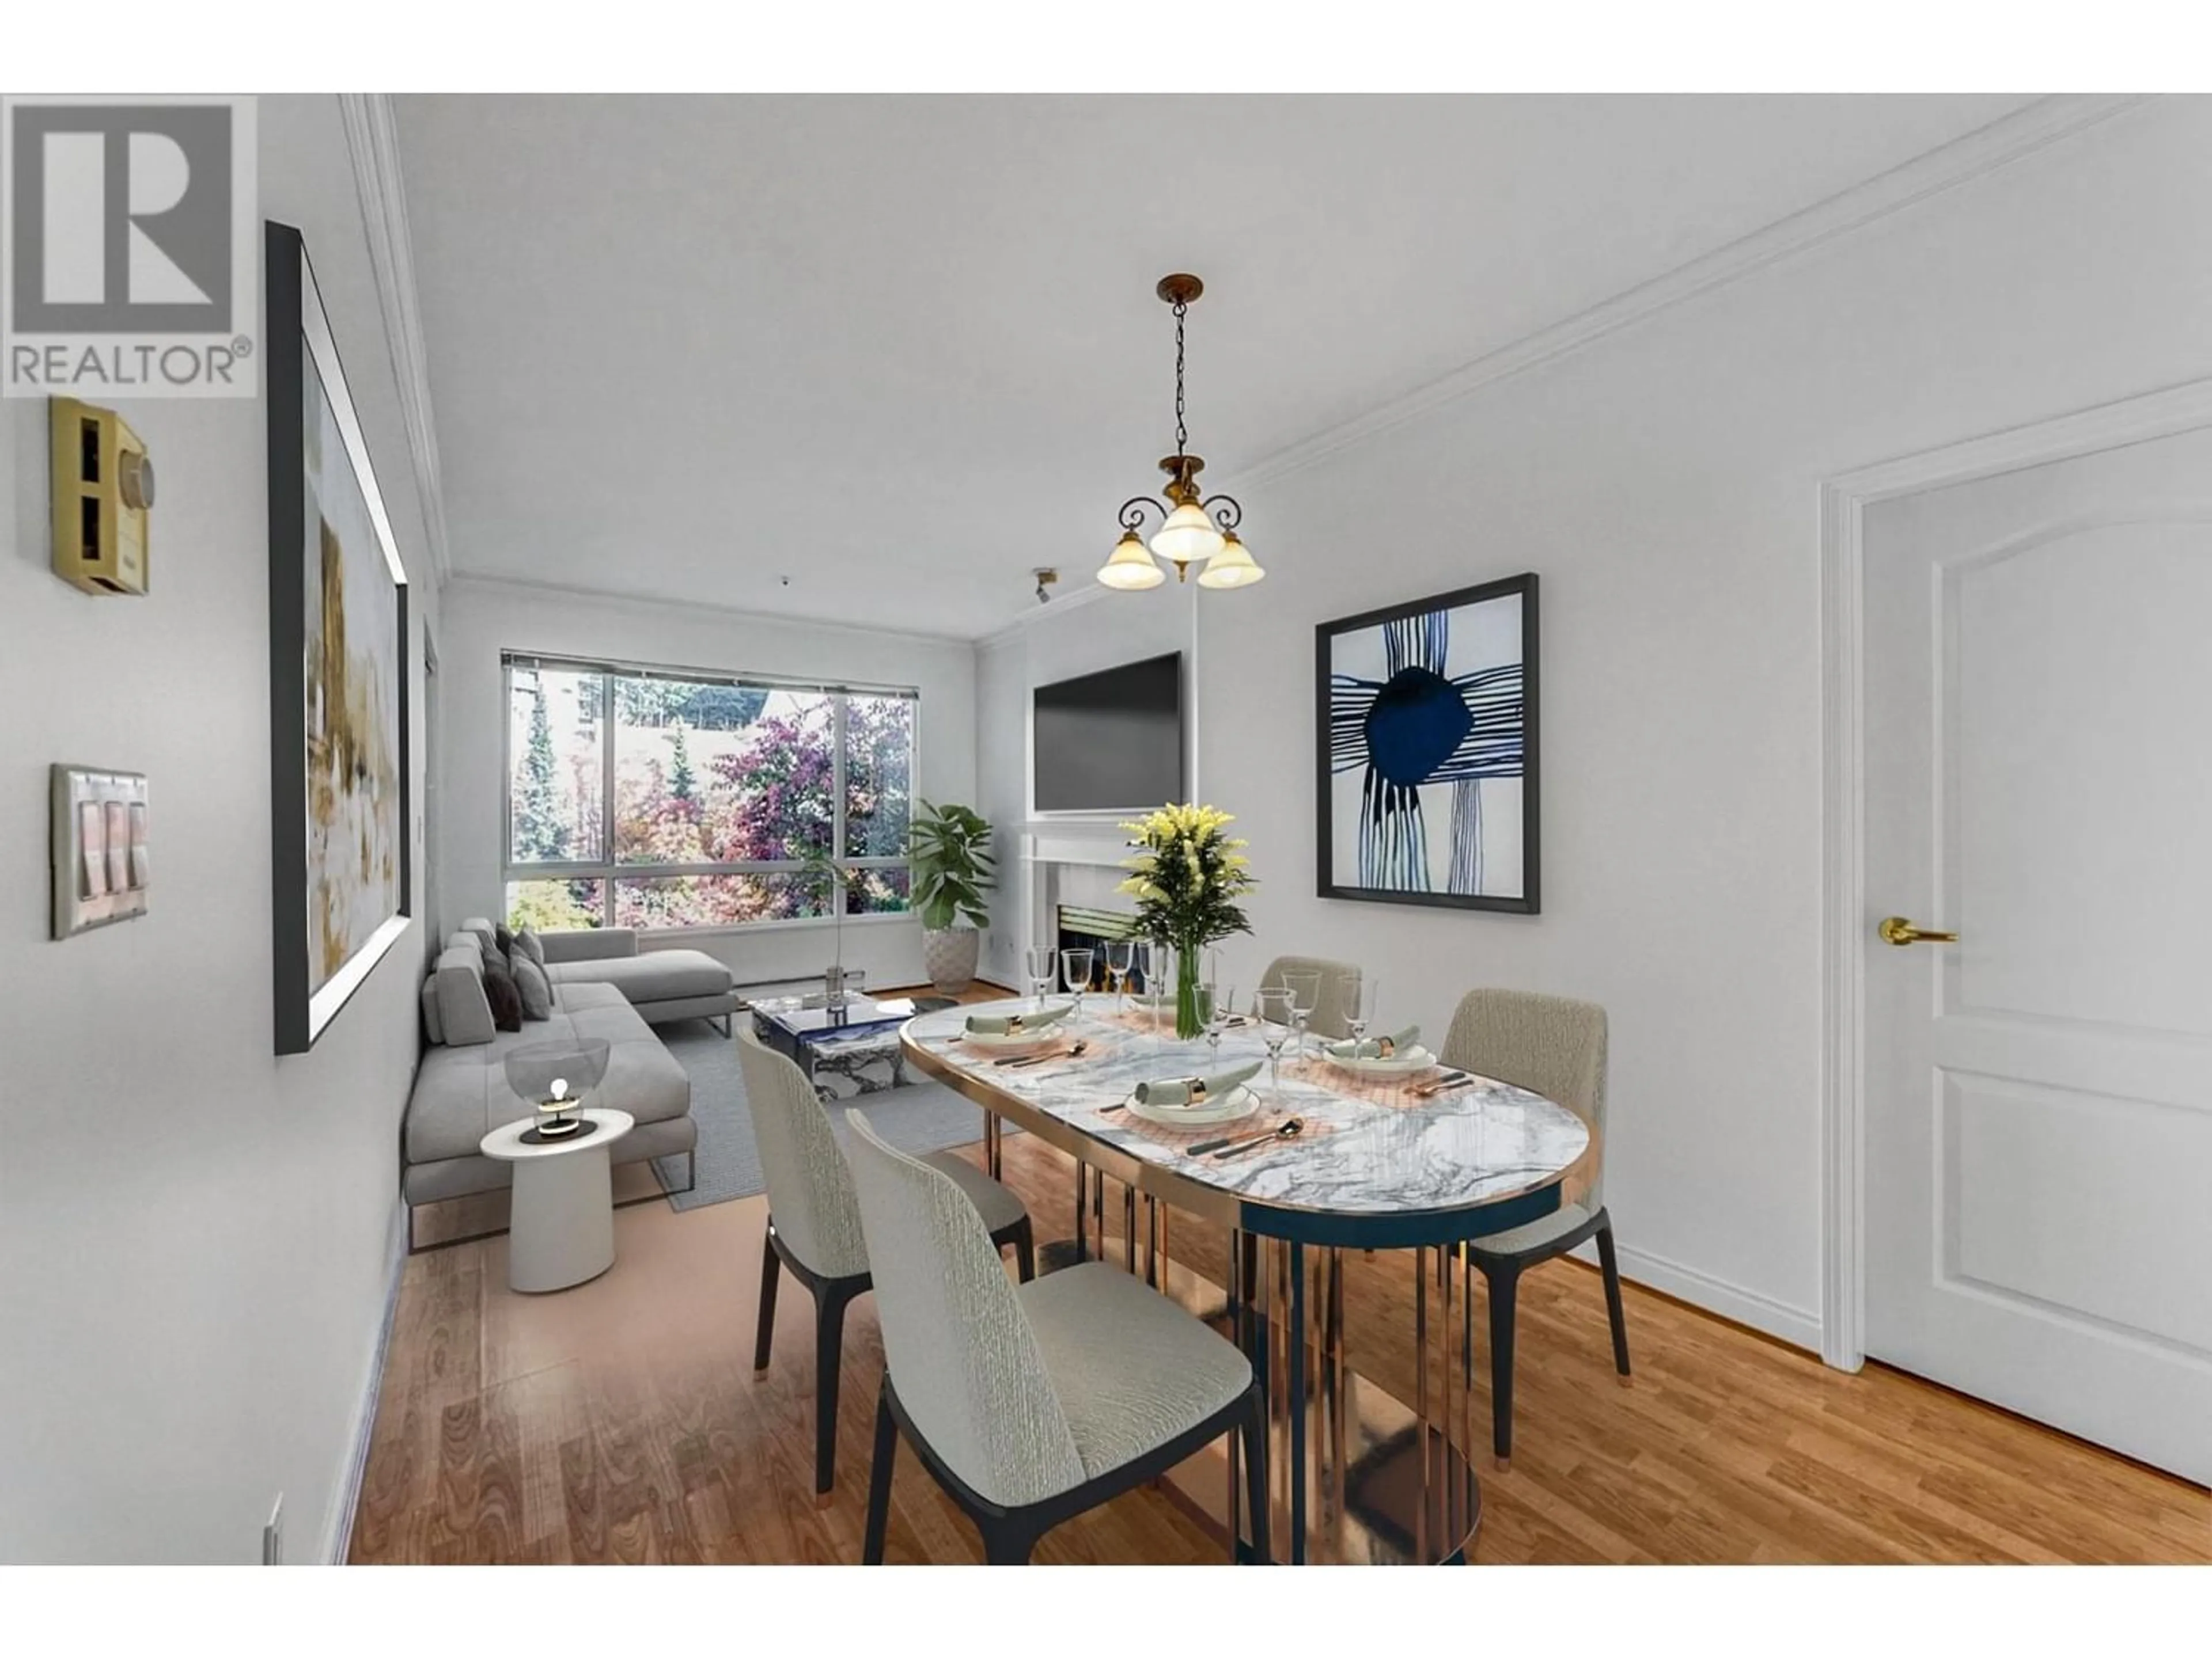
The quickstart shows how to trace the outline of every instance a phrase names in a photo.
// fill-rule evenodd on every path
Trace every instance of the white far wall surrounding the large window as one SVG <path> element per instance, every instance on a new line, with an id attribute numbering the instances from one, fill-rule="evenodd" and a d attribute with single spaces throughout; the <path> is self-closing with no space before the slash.
<path id="1" fill-rule="evenodd" d="M 500 873 L 502 732 L 500 652 L 524 650 L 666 668 L 854 679 L 922 694 L 920 787 L 933 805 L 975 798 L 975 650 L 918 634 L 823 628 L 732 610 L 577 597 L 504 581 L 447 588 L 438 639 L 445 710 L 440 904 L 447 924 L 504 915 Z M 708 951 L 739 982 L 818 975 L 832 962 L 827 922 L 666 933 L 650 944 Z M 916 984 L 922 933 L 909 917 L 847 920 L 845 966 L 869 984 Z"/>

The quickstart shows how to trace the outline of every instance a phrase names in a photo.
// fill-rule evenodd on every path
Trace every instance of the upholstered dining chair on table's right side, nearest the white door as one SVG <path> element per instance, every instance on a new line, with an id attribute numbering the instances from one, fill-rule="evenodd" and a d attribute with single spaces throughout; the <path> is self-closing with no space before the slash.
<path id="1" fill-rule="evenodd" d="M 1597 1169 L 1579 1203 L 1562 1203 L 1542 1220 L 1471 1242 L 1469 1258 L 1491 1289 L 1491 1450 L 1498 1466 L 1513 1457 L 1513 1302 L 1520 1276 L 1586 1238 L 1597 1240 L 1613 1322 L 1613 1368 L 1628 1386 L 1628 1320 L 1621 1315 L 1621 1265 L 1606 1214 L 1606 1010 L 1595 1001 L 1528 990 L 1469 990 L 1444 1037 L 1447 1066 L 1517 1083 L 1555 1099 L 1599 1136 Z"/>

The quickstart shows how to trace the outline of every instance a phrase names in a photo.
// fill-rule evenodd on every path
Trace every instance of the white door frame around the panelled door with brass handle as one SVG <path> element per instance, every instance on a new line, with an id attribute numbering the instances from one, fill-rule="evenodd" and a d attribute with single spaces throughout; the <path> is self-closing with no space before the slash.
<path id="1" fill-rule="evenodd" d="M 2212 427 L 2212 380 L 1900 455 L 1820 484 L 1820 1357 L 1867 1362 L 1865 508 Z"/>

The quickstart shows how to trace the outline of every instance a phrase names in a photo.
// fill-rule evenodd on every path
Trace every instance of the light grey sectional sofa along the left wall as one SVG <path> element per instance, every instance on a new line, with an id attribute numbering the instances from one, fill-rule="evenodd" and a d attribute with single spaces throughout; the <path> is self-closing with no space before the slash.
<path id="1" fill-rule="evenodd" d="M 657 957 L 628 953 L 593 957 L 586 953 L 582 959 L 566 959 L 555 970 L 555 937 L 562 937 L 566 946 L 566 940 L 593 935 L 546 935 L 546 966 L 549 977 L 555 979 L 553 1017 L 524 1019 L 522 1030 L 495 1030 L 491 1001 L 484 997 L 484 953 L 478 933 L 489 937 L 491 922 L 465 922 L 462 931 L 447 940 L 447 948 L 422 984 L 427 1046 L 400 1134 L 400 1192 L 407 1198 L 409 1251 L 420 1247 L 416 1245 L 416 1209 L 420 1205 L 500 1192 L 511 1183 L 513 1165 L 493 1163 L 476 1150 L 491 1130 L 529 1116 L 529 1105 L 507 1085 L 504 1061 L 511 1050 L 533 1041 L 604 1037 L 611 1054 L 606 1081 L 599 1083 L 593 1103 L 637 1119 L 637 1127 L 615 1143 L 615 1163 L 688 1156 L 699 1145 L 699 1125 L 690 1116 L 690 1077 L 653 1035 L 646 1019 L 728 1015 L 737 1006 L 728 988 L 730 973 L 721 964 L 712 964 L 721 973 L 719 999 L 697 966 L 686 964 L 677 964 L 661 977 L 639 975 L 633 968 L 626 982 L 613 984 L 591 977 L 586 968 L 597 964 L 624 970 L 630 962 L 650 964 Z M 635 935 L 628 940 L 628 951 L 635 951 Z M 670 951 L 670 955 L 697 955 L 697 951 Z M 701 955 L 699 959 L 708 962 L 710 957 Z M 630 990 L 644 997 L 644 1006 L 633 1006 Z M 677 1006 L 684 1012 L 675 1012 Z"/>

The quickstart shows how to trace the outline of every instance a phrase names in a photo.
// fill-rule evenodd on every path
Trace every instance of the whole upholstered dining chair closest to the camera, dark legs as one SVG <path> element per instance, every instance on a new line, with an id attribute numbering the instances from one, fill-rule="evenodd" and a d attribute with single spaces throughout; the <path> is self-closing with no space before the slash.
<path id="1" fill-rule="evenodd" d="M 860 1559 L 883 1565 L 900 1433 L 991 1565 L 1237 1433 L 1265 1561 L 1265 1402 L 1237 1344 L 1104 1262 L 1009 1284 L 958 1183 L 845 1121 L 885 1355 Z"/>

